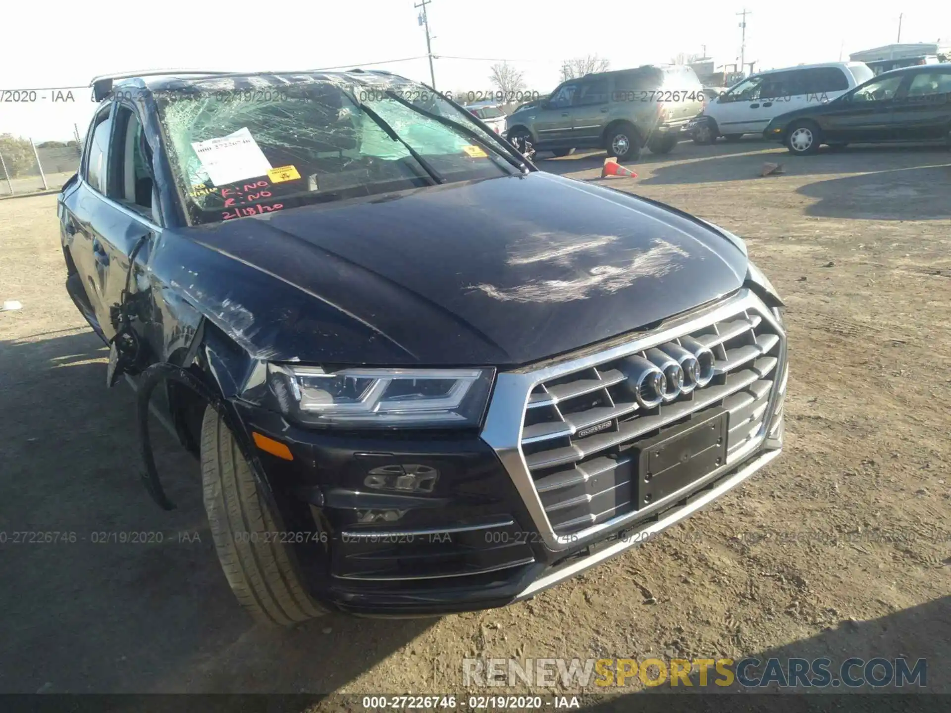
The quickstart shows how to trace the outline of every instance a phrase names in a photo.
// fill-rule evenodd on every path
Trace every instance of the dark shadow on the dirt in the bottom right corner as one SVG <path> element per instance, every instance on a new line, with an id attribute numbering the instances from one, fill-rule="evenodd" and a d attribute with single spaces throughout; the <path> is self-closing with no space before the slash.
<path id="1" fill-rule="evenodd" d="M 758 663 L 744 665 L 743 673 L 737 671 L 737 681 L 734 681 L 732 685 L 715 684 L 717 680 L 724 681 L 724 677 L 717 675 L 711 667 L 708 671 L 706 686 L 700 685 L 700 674 L 695 670 L 689 677 L 689 686 L 683 682 L 677 686 L 671 686 L 668 681 L 650 688 L 650 693 L 673 695 L 672 699 L 670 695 L 664 697 L 665 710 L 680 708 L 686 710 L 687 706 L 700 703 L 700 700 L 690 696 L 690 693 L 703 695 L 703 705 L 709 705 L 711 709 L 716 710 L 766 710 L 778 704 L 781 704 L 781 709 L 784 711 L 829 710 L 837 707 L 868 711 L 916 709 L 912 698 L 895 694 L 919 694 L 917 696 L 919 701 L 923 700 L 926 703 L 928 699 L 931 699 L 935 705 L 939 705 L 938 695 L 922 696 L 921 694 L 941 694 L 941 701 L 947 703 L 948 694 L 951 694 L 951 677 L 948 676 L 944 664 L 951 660 L 951 596 L 919 607 L 902 609 L 878 619 L 864 622 L 843 621 L 839 626 L 828 627 L 816 636 L 788 646 L 768 648 L 751 654 L 748 658 L 755 659 Z M 829 663 L 825 664 L 829 673 L 827 685 L 797 687 L 778 685 L 778 682 L 783 682 L 784 678 L 791 678 L 788 676 L 790 659 L 804 659 L 811 665 L 817 659 L 823 658 L 829 660 Z M 909 680 L 899 686 L 896 682 L 897 675 L 886 676 L 883 666 L 875 666 L 870 673 L 864 665 L 845 666 L 845 662 L 851 658 L 862 659 L 863 662 L 882 658 L 891 662 L 893 667 L 897 667 L 896 659 L 904 658 L 907 660 L 908 669 L 913 673 L 908 677 Z M 778 660 L 779 664 L 769 665 L 770 659 Z M 919 660 L 922 659 L 924 664 L 916 668 Z M 737 667 L 741 663 L 737 662 Z M 771 672 L 772 682 L 768 681 L 770 676 L 765 675 L 767 671 Z M 922 671 L 921 677 L 915 675 L 919 671 Z M 777 672 L 780 678 L 776 678 Z M 650 671 L 650 676 L 657 675 L 657 671 Z M 740 675 L 743 675 L 746 685 L 739 681 Z M 846 685 L 845 676 L 848 676 L 848 680 L 853 683 L 867 682 L 871 676 L 880 684 L 883 682 L 884 684 Z M 811 674 L 807 678 L 812 680 Z M 773 695 L 751 695 L 778 692 L 800 695 L 784 696 L 782 701 L 777 700 Z M 678 693 L 686 695 L 677 696 Z M 869 693 L 892 695 L 862 695 Z M 832 694 L 843 695 L 833 696 Z M 585 710 L 592 713 L 608 713 L 608 711 L 643 709 L 646 704 L 643 701 L 644 696 L 645 693 L 642 692 L 615 697 L 610 701 L 592 704 Z M 717 699 L 720 697 L 726 700 L 718 702 Z M 678 699 L 682 700 L 678 701 Z M 670 708 L 667 703 L 670 703 Z M 933 709 L 937 710 L 940 707 Z M 944 709 L 947 708 L 944 707 Z M 696 708 L 691 707 L 691 710 Z"/>

